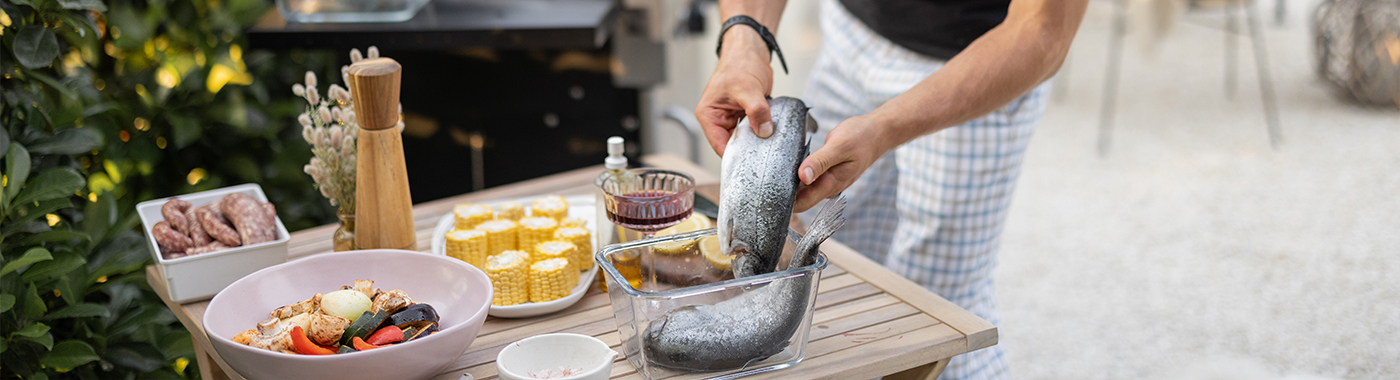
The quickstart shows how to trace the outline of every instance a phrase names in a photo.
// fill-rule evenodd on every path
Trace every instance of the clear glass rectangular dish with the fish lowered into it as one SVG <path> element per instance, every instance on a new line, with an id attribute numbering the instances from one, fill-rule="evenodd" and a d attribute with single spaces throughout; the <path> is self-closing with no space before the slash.
<path id="1" fill-rule="evenodd" d="M 734 279 L 727 257 L 715 252 L 718 251 L 715 248 L 701 248 L 704 240 L 713 240 L 714 236 L 715 230 L 708 229 L 608 245 L 594 255 L 608 282 L 608 296 L 622 338 L 622 352 L 627 356 L 627 363 L 645 379 L 686 373 L 706 373 L 710 379 L 734 379 L 794 366 L 806 352 L 818 282 L 820 271 L 826 268 L 826 255 L 818 252 L 815 264 L 808 266 Z M 777 268 L 787 268 L 798 238 L 797 233 L 788 231 Z M 770 297 L 778 294 L 785 303 L 755 301 L 773 300 Z M 739 304 L 745 307 L 735 307 Z M 769 304 L 788 307 L 773 308 L 776 311 L 770 314 L 757 310 Z M 703 321 L 714 323 L 701 324 L 694 318 L 678 317 L 685 313 L 694 315 L 696 308 L 713 311 L 707 315 L 732 318 L 710 318 Z M 741 328 L 743 321 L 771 323 L 757 324 L 755 330 L 722 328 Z M 750 337 L 746 338 L 749 341 L 767 344 L 743 344 L 741 345 L 743 349 L 732 346 L 721 349 L 720 344 L 696 344 L 693 339 L 682 339 L 693 337 L 672 334 L 685 331 L 686 325 L 704 325 L 701 330 L 711 331 L 756 331 L 760 334 L 721 337 L 743 335 Z M 696 331 L 699 335 L 707 334 Z M 721 341 L 732 339 L 721 338 Z M 666 345 L 668 342 L 675 345 Z M 678 349 L 666 349 L 668 346 Z M 711 349 L 707 351 L 707 346 Z M 745 351 L 749 348 L 752 349 Z"/>

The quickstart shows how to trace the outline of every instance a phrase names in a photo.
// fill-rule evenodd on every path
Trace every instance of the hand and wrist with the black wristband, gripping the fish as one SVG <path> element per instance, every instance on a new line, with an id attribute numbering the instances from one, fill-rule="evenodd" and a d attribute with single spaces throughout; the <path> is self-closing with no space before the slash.
<path id="1" fill-rule="evenodd" d="M 785 6 L 787 0 L 721 0 L 720 18 L 748 15 L 777 34 Z M 722 38 L 720 65 L 696 107 L 696 119 L 700 121 L 710 147 L 720 156 L 724 156 L 724 146 L 729 142 L 729 130 L 745 116 L 749 116 L 749 123 L 760 137 L 773 135 L 773 115 L 769 114 L 769 101 L 764 98 L 773 91 L 769 46 L 757 31 L 745 25 L 729 28 Z"/>

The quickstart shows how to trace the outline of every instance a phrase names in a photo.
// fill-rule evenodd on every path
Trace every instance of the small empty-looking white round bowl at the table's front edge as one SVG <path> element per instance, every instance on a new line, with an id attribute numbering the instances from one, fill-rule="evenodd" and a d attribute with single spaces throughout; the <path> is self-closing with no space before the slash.
<path id="1" fill-rule="evenodd" d="M 505 380 L 605 380 L 612 374 L 615 359 L 617 352 L 598 338 L 580 334 L 545 334 L 501 349 L 501 353 L 496 355 L 496 372 Z M 570 370 L 571 374 L 557 377 L 564 370 Z"/>

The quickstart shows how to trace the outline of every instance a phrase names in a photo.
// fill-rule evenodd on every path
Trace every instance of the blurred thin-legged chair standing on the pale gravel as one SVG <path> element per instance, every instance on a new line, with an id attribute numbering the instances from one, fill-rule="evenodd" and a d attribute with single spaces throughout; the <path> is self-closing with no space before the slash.
<path id="1" fill-rule="evenodd" d="M 1177 0 L 1148 0 L 1156 4 Z M 1123 43 L 1127 35 L 1127 7 L 1128 0 L 1114 0 L 1113 31 L 1109 34 L 1109 63 L 1105 70 L 1103 107 L 1099 114 L 1099 156 L 1109 154 L 1112 144 L 1113 116 L 1117 112 L 1119 76 L 1123 63 Z M 1268 143 L 1274 149 L 1282 143 L 1282 132 L 1278 126 L 1278 100 L 1274 94 L 1274 80 L 1268 72 L 1268 53 L 1264 50 L 1264 34 L 1259 28 L 1259 17 L 1254 11 L 1253 0 L 1190 0 L 1186 3 L 1189 11 L 1218 10 L 1225 13 L 1225 95 L 1233 98 L 1236 81 L 1236 36 L 1239 35 L 1238 15 L 1245 11 L 1245 21 L 1249 27 L 1250 45 L 1254 50 L 1254 67 L 1259 72 L 1260 97 L 1264 102 L 1264 119 L 1268 126 Z M 1282 1 L 1278 4 L 1280 22 L 1284 17 Z M 1172 7 L 1158 7 L 1156 11 L 1170 11 Z M 1165 20 L 1172 20 L 1166 17 Z"/>

